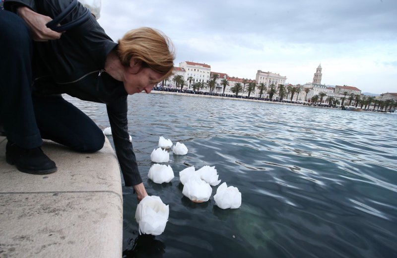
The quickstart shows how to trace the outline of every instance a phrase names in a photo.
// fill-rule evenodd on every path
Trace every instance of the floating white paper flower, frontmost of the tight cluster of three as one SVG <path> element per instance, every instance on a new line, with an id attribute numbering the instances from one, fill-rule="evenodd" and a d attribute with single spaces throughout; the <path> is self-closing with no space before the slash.
<path id="1" fill-rule="evenodd" d="M 195 173 L 189 178 L 183 187 L 182 194 L 194 202 L 207 201 L 212 194 L 211 186 L 200 179 L 200 175 Z"/>

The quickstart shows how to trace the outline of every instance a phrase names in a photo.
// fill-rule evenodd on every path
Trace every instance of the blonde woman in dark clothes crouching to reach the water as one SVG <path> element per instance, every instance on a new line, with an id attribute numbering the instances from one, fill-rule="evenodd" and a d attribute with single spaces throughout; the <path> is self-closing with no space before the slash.
<path id="1" fill-rule="evenodd" d="M 171 43 L 157 30 L 139 28 L 127 32 L 117 44 L 93 16 L 62 33 L 48 29 L 45 24 L 69 3 L 5 0 L 5 9 L 22 19 L 0 11 L 0 36 L 5 39 L 1 49 L 6 52 L 4 60 L 13 60 L 1 62 L 0 67 L 0 118 L 8 139 L 7 162 L 26 173 L 55 172 L 55 163 L 40 149 L 42 138 L 83 152 L 101 149 L 102 130 L 61 93 L 105 103 L 125 184 L 133 186 L 140 200 L 147 193 L 129 141 L 127 96 L 150 93 L 154 84 L 172 73 Z M 78 3 L 62 23 L 83 12 L 85 7 Z"/>

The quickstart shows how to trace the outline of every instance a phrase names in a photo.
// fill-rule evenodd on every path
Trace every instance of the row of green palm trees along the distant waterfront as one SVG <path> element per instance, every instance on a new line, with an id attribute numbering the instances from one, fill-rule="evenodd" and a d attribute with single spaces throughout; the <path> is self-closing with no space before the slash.
<path id="1" fill-rule="evenodd" d="M 212 93 L 215 90 L 216 87 L 216 80 L 219 79 L 219 74 L 217 73 L 212 73 L 210 79 L 207 82 L 194 82 L 192 84 L 192 81 L 194 81 L 194 78 L 192 76 L 189 76 L 187 78 L 187 81 L 185 81 L 185 78 L 183 75 L 177 74 L 174 75 L 172 78 L 172 81 L 175 82 L 175 88 L 181 87 L 181 91 L 183 90 L 183 87 L 189 86 L 189 89 L 192 87 L 193 90 L 200 90 L 200 89 L 209 89 L 209 92 Z M 222 79 L 220 82 L 220 85 L 223 87 L 223 94 L 225 94 L 225 90 L 227 86 L 230 86 L 230 82 L 227 79 Z M 246 87 L 247 86 L 247 87 Z M 302 91 L 302 88 L 299 87 L 293 87 L 293 86 L 285 86 L 283 84 L 278 84 L 278 86 L 271 84 L 267 88 L 265 83 L 259 83 L 257 84 L 255 81 L 251 81 L 248 79 L 242 79 L 242 82 L 235 82 L 232 87 L 230 88 L 230 91 L 236 94 L 236 97 L 238 97 L 239 93 L 248 93 L 248 97 L 251 96 L 251 93 L 255 93 L 255 91 L 259 89 L 259 98 L 262 98 L 263 95 L 268 94 L 269 99 L 273 99 L 274 96 L 277 96 L 277 99 L 279 101 L 282 101 L 284 97 L 286 97 L 289 101 L 293 101 L 293 98 L 296 94 L 296 100 L 298 101 L 298 96 L 299 93 Z M 303 91 L 306 93 L 305 100 L 307 99 L 307 95 L 310 92 L 310 88 L 304 88 Z M 349 101 L 349 106 L 351 106 L 351 103 L 354 101 L 354 106 L 358 107 L 360 105 L 360 108 L 362 109 L 364 107 L 364 110 L 368 110 L 370 106 L 373 103 L 374 110 L 378 108 L 381 111 L 383 109 L 388 110 L 388 108 L 396 108 L 397 102 L 391 99 L 387 100 L 377 100 L 375 97 L 370 96 L 361 96 L 359 94 L 350 94 L 347 96 L 348 92 L 345 91 L 343 92 L 343 97 L 340 99 L 338 97 L 333 97 L 333 96 L 327 96 L 327 93 L 325 92 L 320 92 L 317 95 L 314 95 L 310 100 L 311 103 L 319 103 L 324 104 L 328 103 L 328 105 L 341 105 L 344 106 L 345 101 Z M 325 102 L 323 102 L 325 100 Z"/>

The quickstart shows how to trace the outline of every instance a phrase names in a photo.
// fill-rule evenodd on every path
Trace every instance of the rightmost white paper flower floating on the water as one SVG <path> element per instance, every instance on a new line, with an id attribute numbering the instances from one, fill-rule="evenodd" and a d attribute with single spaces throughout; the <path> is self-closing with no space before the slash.
<path id="1" fill-rule="evenodd" d="M 226 182 L 218 187 L 214 195 L 215 204 L 221 209 L 237 209 L 241 206 L 241 193 L 237 187 L 227 187 Z"/>

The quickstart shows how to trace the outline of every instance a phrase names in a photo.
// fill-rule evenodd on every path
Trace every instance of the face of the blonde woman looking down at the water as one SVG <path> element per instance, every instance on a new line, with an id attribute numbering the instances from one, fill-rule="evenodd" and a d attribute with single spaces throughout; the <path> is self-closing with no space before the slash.
<path id="1" fill-rule="evenodd" d="M 158 83 L 163 75 L 153 71 L 149 67 L 140 67 L 138 72 L 126 72 L 124 75 L 124 88 L 132 95 L 145 91 L 150 93 L 153 86 Z"/>

